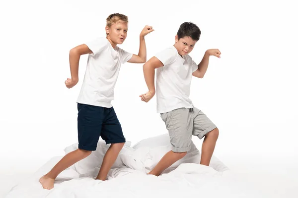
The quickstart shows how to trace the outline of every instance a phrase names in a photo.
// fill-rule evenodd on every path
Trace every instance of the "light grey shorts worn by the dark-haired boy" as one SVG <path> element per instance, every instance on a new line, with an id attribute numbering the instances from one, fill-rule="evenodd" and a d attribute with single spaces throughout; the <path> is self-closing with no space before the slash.
<path id="1" fill-rule="evenodd" d="M 189 151 L 192 135 L 202 139 L 207 133 L 217 128 L 196 107 L 174 109 L 166 113 L 161 113 L 160 117 L 169 132 L 173 152 Z"/>

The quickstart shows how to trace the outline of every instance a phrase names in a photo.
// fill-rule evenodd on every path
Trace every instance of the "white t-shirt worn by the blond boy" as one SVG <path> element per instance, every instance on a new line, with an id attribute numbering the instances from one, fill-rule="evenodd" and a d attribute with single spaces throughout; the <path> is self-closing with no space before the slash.
<path id="1" fill-rule="evenodd" d="M 93 53 L 88 55 L 84 80 L 76 102 L 110 108 L 120 66 L 131 59 L 133 54 L 118 47 L 113 49 L 106 38 L 97 38 L 85 45 Z"/>

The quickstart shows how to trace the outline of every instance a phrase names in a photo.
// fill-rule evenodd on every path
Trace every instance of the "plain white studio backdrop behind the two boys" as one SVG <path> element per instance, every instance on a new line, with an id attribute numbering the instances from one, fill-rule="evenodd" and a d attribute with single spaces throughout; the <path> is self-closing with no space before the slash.
<path id="1" fill-rule="evenodd" d="M 222 52 L 221 59 L 210 58 L 203 79 L 193 78 L 190 96 L 220 130 L 214 155 L 239 173 L 266 175 L 270 185 L 288 181 L 277 192 L 293 195 L 298 178 L 294 2 L 1 1 L 0 175 L 31 174 L 77 142 L 75 101 L 87 55 L 80 58 L 78 84 L 67 89 L 69 50 L 104 37 L 105 19 L 120 12 L 129 17 L 120 48 L 137 54 L 141 30 L 145 25 L 155 30 L 146 36 L 148 59 L 174 44 L 181 23 L 199 26 L 202 35 L 192 58 L 199 63 L 207 49 Z M 132 145 L 167 132 L 156 98 L 149 103 L 139 98 L 147 92 L 142 66 L 122 65 L 113 101 Z M 201 147 L 202 141 L 193 141 Z"/>

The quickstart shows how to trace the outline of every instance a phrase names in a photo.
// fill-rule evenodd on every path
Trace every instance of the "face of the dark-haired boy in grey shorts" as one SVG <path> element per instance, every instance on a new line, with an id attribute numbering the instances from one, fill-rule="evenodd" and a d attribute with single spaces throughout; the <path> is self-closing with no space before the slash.
<path id="1" fill-rule="evenodd" d="M 189 54 L 195 47 L 197 41 L 191 37 L 183 37 L 178 40 L 178 36 L 175 36 L 175 48 L 180 55 Z"/>

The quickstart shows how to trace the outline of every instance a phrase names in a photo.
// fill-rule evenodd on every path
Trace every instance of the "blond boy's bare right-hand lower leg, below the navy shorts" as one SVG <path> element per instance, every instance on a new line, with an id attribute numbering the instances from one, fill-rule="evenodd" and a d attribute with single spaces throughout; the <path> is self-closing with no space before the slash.
<path id="1" fill-rule="evenodd" d="M 115 143 L 111 144 L 109 149 L 107 150 L 106 154 L 103 157 L 102 165 L 100 167 L 99 173 L 96 177 L 98 180 L 105 181 L 107 178 L 107 175 L 112 167 L 112 165 L 115 163 L 119 152 L 123 148 L 125 143 Z"/>

